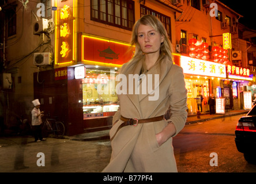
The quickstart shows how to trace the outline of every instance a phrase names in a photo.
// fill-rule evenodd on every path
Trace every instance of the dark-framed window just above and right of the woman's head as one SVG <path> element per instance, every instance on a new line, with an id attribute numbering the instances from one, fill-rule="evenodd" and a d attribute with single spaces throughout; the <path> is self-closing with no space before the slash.
<path id="1" fill-rule="evenodd" d="M 146 14 L 152 14 L 153 16 L 156 16 L 157 18 L 159 18 L 159 20 L 164 24 L 167 34 L 171 40 L 171 18 L 168 16 L 164 16 L 163 14 L 155 10 L 149 9 L 144 5 L 141 5 L 141 17 Z"/>

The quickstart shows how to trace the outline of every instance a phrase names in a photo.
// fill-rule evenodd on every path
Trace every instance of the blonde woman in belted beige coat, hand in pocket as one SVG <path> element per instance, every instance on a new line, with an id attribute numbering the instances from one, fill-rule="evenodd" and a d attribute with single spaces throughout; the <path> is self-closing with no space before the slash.
<path id="1" fill-rule="evenodd" d="M 187 118 L 183 70 L 173 64 L 170 40 L 155 16 L 135 23 L 131 45 L 134 57 L 119 71 L 119 109 L 110 130 L 112 154 L 103 172 L 177 172 L 172 137 Z M 171 117 L 165 120 L 169 106 Z"/>

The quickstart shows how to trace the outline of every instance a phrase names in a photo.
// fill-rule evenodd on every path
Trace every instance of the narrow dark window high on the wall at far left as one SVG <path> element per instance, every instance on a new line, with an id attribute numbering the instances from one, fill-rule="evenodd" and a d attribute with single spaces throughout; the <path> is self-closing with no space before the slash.
<path id="1" fill-rule="evenodd" d="M 7 17 L 7 36 L 13 36 L 16 34 L 16 22 L 17 22 L 17 15 L 16 15 L 16 7 L 10 8 L 6 11 L 6 17 Z"/>

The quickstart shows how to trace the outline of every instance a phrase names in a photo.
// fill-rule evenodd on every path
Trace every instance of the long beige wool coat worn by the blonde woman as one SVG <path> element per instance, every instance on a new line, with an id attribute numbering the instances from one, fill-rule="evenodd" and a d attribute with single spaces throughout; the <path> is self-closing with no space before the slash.
<path id="1" fill-rule="evenodd" d="M 126 75 L 128 81 L 129 74 L 140 75 L 141 67 L 142 62 L 127 62 L 123 64 L 119 74 Z M 146 79 L 149 79 L 149 74 L 160 74 L 159 98 L 156 101 L 149 100 L 148 97 L 153 94 L 149 94 L 148 90 L 146 94 L 141 92 L 142 82 L 138 82 L 139 94 L 128 93 L 129 87 L 135 89 L 138 83 L 134 82 L 133 86 L 127 86 L 127 94 L 118 95 L 119 109 L 113 117 L 114 125 L 110 130 L 110 138 L 123 122 L 120 120 L 121 115 L 138 119 L 157 117 L 164 115 L 170 106 L 171 117 L 168 120 L 138 124 L 137 127 L 128 125 L 119 129 L 111 141 L 110 163 L 103 172 L 177 172 L 172 137 L 182 130 L 187 118 L 187 90 L 183 70 L 170 60 L 163 59 L 146 73 Z M 157 86 L 153 81 L 152 89 Z M 174 123 L 176 133 L 159 146 L 156 133 L 161 132 L 170 121 Z"/>

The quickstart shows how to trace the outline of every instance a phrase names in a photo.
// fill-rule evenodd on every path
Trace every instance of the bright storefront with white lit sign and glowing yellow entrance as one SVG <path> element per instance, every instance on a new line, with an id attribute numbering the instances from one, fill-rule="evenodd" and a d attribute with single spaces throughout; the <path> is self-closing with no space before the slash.
<path id="1" fill-rule="evenodd" d="M 208 112 L 210 95 L 216 97 L 221 79 L 226 78 L 225 65 L 177 54 L 174 62 L 183 68 L 185 75 L 188 113 L 197 112 L 199 94 L 203 97 L 202 112 Z"/>

